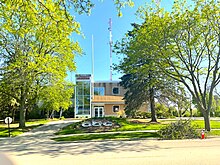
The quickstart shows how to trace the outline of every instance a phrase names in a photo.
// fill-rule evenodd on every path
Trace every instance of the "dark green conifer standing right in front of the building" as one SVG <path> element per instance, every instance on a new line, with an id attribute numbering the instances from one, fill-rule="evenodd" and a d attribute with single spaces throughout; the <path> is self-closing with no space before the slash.
<path id="1" fill-rule="evenodd" d="M 149 102 L 151 121 L 156 122 L 155 98 L 160 100 L 162 95 L 175 93 L 174 89 L 179 85 L 156 65 L 158 59 L 154 56 L 153 47 L 141 35 L 145 26 L 132 25 L 133 30 L 115 45 L 115 52 L 124 55 L 115 69 L 125 74 L 121 77 L 121 85 L 127 90 L 124 97 L 127 113 L 136 111 L 144 102 Z"/>

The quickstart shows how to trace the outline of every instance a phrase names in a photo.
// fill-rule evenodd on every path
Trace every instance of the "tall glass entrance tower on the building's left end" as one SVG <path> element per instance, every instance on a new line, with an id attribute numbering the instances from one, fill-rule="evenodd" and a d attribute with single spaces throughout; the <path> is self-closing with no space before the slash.
<path id="1" fill-rule="evenodd" d="M 91 117 L 91 75 L 76 74 L 75 117 Z"/>

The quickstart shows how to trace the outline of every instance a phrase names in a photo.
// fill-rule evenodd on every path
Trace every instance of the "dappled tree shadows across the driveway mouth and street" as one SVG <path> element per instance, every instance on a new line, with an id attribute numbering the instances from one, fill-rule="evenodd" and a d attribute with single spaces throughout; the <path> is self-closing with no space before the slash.
<path id="1" fill-rule="evenodd" d="M 150 141 L 83 141 L 56 142 L 51 140 L 53 133 L 60 129 L 60 124 L 44 125 L 34 129 L 25 136 L 17 136 L 0 140 L 0 152 L 14 152 L 17 156 L 40 154 L 42 156 L 57 157 L 60 155 L 95 154 L 103 152 L 120 153 L 124 151 L 142 152 L 160 149 Z M 54 131 L 52 131 L 54 130 Z"/>

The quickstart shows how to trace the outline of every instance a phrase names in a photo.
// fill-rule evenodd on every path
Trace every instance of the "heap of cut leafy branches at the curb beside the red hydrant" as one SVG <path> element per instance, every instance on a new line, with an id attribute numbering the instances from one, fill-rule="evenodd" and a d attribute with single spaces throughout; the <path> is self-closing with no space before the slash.
<path id="1" fill-rule="evenodd" d="M 190 120 L 179 120 L 163 127 L 158 131 L 162 139 L 195 139 L 199 138 L 199 132 L 192 126 Z"/>

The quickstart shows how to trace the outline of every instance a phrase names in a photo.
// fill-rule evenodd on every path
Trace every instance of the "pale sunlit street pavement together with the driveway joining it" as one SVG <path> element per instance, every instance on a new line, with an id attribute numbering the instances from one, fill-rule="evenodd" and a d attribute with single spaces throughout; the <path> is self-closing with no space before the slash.
<path id="1" fill-rule="evenodd" d="M 54 132 L 71 122 L 53 122 L 22 136 L 0 140 L 0 152 L 7 153 L 16 165 L 219 165 L 220 162 L 220 138 L 174 141 L 50 140 Z"/>

